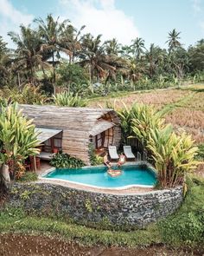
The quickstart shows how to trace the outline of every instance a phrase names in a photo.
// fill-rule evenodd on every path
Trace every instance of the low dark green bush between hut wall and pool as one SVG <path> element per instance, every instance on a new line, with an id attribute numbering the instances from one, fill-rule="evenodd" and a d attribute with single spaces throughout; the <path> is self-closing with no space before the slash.
<path id="1" fill-rule="evenodd" d="M 80 168 L 85 166 L 80 159 L 65 153 L 55 154 L 50 164 L 57 168 Z"/>

